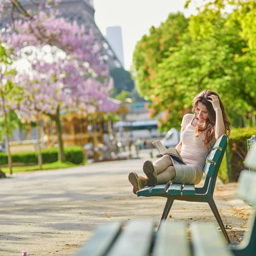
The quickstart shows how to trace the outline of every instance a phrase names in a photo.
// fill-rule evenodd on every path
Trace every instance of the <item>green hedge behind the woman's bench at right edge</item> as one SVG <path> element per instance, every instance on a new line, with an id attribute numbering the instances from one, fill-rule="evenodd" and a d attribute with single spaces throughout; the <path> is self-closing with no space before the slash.
<path id="1" fill-rule="evenodd" d="M 237 181 L 239 174 L 244 169 L 243 161 L 247 154 L 247 139 L 256 134 L 256 128 L 232 129 L 227 145 L 228 160 L 230 167 L 230 181 Z M 224 182 L 228 181 L 226 155 L 224 155 L 218 177 Z"/>

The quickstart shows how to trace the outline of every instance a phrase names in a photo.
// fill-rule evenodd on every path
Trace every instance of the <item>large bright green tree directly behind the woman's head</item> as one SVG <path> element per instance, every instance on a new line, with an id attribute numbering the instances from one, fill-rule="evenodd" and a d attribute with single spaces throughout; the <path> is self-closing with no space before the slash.
<path id="1" fill-rule="evenodd" d="M 224 19 L 212 28 L 212 35 L 198 40 L 184 33 L 159 64 L 149 111 L 153 117 L 163 113 L 162 129 L 178 127 L 182 116 L 190 112 L 193 97 L 206 89 L 219 93 L 231 115 L 256 110 L 255 77 L 247 67 L 252 59 L 243 51 L 246 42 L 238 36 L 239 28 L 228 28 Z"/>

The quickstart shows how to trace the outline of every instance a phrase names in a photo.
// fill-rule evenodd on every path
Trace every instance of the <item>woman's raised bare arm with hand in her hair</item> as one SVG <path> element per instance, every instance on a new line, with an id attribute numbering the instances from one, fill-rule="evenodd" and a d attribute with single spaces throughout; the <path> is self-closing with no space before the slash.
<path id="1" fill-rule="evenodd" d="M 225 125 L 223 121 L 221 106 L 218 100 L 218 96 L 212 94 L 209 96 L 209 98 L 211 98 L 211 100 L 208 99 L 208 101 L 212 103 L 213 109 L 216 113 L 215 138 L 218 140 L 221 135 L 225 134 Z"/>

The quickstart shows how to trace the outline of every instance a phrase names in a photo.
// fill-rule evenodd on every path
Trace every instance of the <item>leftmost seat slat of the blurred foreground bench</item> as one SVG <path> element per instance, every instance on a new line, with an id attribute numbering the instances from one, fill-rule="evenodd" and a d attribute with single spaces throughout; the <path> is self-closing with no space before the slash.
<path id="1" fill-rule="evenodd" d="M 99 225 L 89 241 L 81 248 L 76 256 L 103 256 L 111 247 L 121 230 L 121 222 Z"/>

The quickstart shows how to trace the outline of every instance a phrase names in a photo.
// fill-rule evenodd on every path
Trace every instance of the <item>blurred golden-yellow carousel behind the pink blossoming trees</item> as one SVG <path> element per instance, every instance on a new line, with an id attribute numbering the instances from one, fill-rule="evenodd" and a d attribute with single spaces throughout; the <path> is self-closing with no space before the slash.
<path id="1" fill-rule="evenodd" d="M 113 122 L 118 121 L 119 116 L 125 116 L 129 111 L 127 101 L 119 101 L 108 98 L 108 100 L 118 105 L 113 113 L 94 111 L 92 113 L 81 114 L 77 112 L 61 111 L 61 128 L 64 147 L 79 145 L 83 147 L 88 143 L 97 146 L 103 142 L 103 135 L 113 134 Z M 26 123 L 26 141 L 11 142 L 12 153 L 20 151 L 35 151 L 35 141 L 32 140 L 32 122 L 38 122 L 41 131 L 40 141 L 44 142 L 44 147 L 52 147 L 58 143 L 57 132 L 54 121 L 49 116 L 41 114 L 32 118 L 21 118 L 21 122 Z M 21 145 L 22 144 L 22 145 Z"/>

